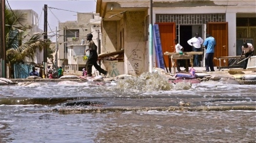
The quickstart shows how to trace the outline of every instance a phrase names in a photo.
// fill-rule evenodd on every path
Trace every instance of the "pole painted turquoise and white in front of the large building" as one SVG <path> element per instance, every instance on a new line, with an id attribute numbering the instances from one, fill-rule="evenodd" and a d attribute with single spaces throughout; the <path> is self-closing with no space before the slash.
<path id="1" fill-rule="evenodd" d="M 150 0 L 149 8 L 149 72 L 153 72 L 153 0 Z"/>

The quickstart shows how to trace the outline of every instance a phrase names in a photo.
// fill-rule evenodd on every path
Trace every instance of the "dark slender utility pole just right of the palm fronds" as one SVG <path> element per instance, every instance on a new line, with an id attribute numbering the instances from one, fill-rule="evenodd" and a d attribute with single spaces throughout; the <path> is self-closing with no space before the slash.
<path id="1" fill-rule="evenodd" d="M 43 35 L 43 39 L 45 42 L 47 42 L 47 5 L 44 5 L 44 23 L 43 23 L 43 32 L 44 32 L 44 35 Z M 43 62 L 44 62 L 44 72 L 45 72 L 45 75 L 47 73 L 47 46 L 44 47 L 44 52 L 43 52 Z"/>

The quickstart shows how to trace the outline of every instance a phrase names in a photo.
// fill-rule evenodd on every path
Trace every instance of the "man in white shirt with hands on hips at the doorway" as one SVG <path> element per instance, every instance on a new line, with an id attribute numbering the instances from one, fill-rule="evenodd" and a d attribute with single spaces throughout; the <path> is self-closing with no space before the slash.
<path id="1" fill-rule="evenodd" d="M 198 33 L 195 33 L 195 37 L 188 40 L 188 44 L 190 46 L 193 46 L 193 51 L 201 51 L 201 45 L 203 44 L 203 42 L 204 40 L 201 37 L 199 37 Z M 198 57 L 199 55 L 194 55 L 194 62 L 193 62 L 194 67 L 199 67 Z"/>

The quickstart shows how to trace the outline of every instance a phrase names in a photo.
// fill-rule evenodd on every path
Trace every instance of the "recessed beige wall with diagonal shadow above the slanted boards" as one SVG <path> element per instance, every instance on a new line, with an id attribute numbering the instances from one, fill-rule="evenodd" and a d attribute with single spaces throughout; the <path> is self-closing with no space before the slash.
<path id="1" fill-rule="evenodd" d="M 117 21 L 102 22 L 102 52 L 117 51 Z"/>

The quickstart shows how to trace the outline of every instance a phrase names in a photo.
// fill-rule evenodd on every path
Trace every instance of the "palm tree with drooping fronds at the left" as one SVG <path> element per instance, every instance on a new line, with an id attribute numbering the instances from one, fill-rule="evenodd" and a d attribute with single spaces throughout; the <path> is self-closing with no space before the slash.
<path id="1" fill-rule="evenodd" d="M 16 63 L 33 61 L 37 51 L 48 44 L 41 39 L 42 34 L 34 34 L 28 41 L 25 33 L 31 29 L 26 23 L 26 14 L 20 10 L 5 8 L 6 58 L 13 66 Z"/>

